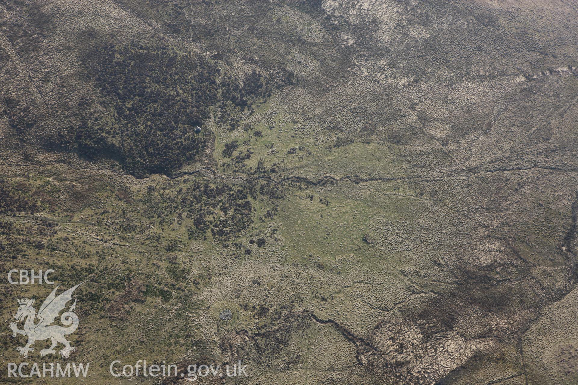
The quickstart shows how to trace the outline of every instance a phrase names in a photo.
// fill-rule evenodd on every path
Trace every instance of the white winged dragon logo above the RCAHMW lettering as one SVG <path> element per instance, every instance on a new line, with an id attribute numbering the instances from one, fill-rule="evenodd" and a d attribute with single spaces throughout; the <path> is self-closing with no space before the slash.
<path id="1" fill-rule="evenodd" d="M 70 354 L 76 350 L 76 347 L 72 347 L 71 343 L 64 338 L 65 335 L 75 332 L 78 327 L 78 316 L 73 312 L 76 306 L 76 296 L 72 306 L 60 316 L 60 322 L 66 327 L 52 325 L 52 323 L 62 309 L 66 308 L 66 302 L 72 300 L 72 292 L 83 283 L 84 282 L 81 282 L 71 287 L 71 289 L 66 290 L 60 294 L 60 296 L 56 297 L 56 290 L 60 286 L 58 285 L 46 300 L 42 302 L 40 311 L 38 312 L 38 323 L 35 323 L 36 310 L 32 307 L 35 300 L 28 298 L 18 300 L 20 307 L 14 318 L 16 318 L 18 322 L 25 319 L 24 330 L 18 329 L 16 322 L 10 324 L 10 329 L 12 329 L 12 337 L 16 337 L 17 334 L 23 334 L 28 337 L 26 346 L 16 348 L 16 350 L 20 352 L 20 356 L 28 357 L 28 352 L 34 352 L 34 347 L 30 346 L 32 346 L 35 341 L 42 341 L 49 338 L 52 341 L 52 345 L 48 349 L 40 350 L 40 356 L 54 354 L 54 347 L 56 347 L 58 342 L 64 345 L 64 349 L 60 350 L 60 355 L 64 358 L 68 358 Z"/>

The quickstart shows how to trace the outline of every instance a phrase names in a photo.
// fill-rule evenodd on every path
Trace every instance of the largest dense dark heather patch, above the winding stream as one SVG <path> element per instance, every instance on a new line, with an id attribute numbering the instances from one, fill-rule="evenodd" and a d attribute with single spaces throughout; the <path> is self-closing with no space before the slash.
<path id="1" fill-rule="evenodd" d="M 117 160 L 136 177 L 169 173 L 205 147 L 202 126 L 212 109 L 235 126 L 235 112 L 270 94 L 260 73 L 243 82 L 218 62 L 161 43 L 94 44 L 84 54 L 87 81 L 98 88 L 103 113 L 86 114 L 64 144 L 89 158 Z M 268 91 L 269 89 L 269 91 Z M 90 102 L 83 100 L 81 109 Z M 87 109 L 88 110 L 88 109 Z"/>

